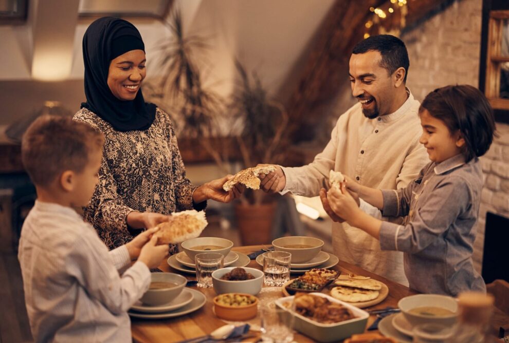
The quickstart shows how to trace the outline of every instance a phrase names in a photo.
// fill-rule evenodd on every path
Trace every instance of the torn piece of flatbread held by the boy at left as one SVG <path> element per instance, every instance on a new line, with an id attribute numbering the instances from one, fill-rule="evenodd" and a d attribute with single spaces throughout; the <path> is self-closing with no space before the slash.
<path id="1" fill-rule="evenodd" d="M 207 226 L 205 211 L 190 209 L 172 213 L 169 221 L 156 226 L 159 230 L 154 235 L 157 237 L 157 244 L 177 244 L 198 237 L 205 226 Z"/>

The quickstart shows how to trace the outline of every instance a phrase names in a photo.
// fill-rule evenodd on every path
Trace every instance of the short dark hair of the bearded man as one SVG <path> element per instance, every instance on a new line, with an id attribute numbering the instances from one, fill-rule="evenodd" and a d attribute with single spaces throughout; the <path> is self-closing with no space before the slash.
<path id="1" fill-rule="evenodd" d="M 358 54 L 366 53 L 368 51 L 380 52 L 382 57 L 380 67 L 387 69 L 389 75 L 392 75 L 397 68 L 405 68 L 405 79 L 403 82 L 407 82 L 410 61 L 408 60 L 407 47 L 402 40 L 390 34 L 370 36 L 357 43 L 352 53 Z"/>

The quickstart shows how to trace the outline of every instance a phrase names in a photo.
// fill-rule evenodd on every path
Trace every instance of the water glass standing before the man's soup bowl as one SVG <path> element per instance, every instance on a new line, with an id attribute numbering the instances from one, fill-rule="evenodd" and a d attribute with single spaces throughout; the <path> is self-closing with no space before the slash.
<path id="1" fill-rule="evenodd" d="M 290 280 L 292 254 L 285 251 L 269 251 L 262 256 L 266 285 L 282 286 Z"/>

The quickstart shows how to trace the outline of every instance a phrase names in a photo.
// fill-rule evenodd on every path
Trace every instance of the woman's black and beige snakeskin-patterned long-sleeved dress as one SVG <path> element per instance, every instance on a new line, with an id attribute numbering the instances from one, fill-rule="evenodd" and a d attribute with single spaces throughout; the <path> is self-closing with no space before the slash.
<path id="1" fill-rule="evenodd" d="M 86 108 L 80 109 L 74 120 L 104 134 L 99 183 L 83 217 L 94 225 L 109 249 L 133 239 L 126 221 L 131 211 L 169 215 L 205 208 L 206 202 L 193 204 L 197 187 L 186 177 L 167 113 L 157 108 L 149 129 L 127 132 L 116 131 Z M 177 246 L 171 246 L 170 254 L 177 251 Z"/>

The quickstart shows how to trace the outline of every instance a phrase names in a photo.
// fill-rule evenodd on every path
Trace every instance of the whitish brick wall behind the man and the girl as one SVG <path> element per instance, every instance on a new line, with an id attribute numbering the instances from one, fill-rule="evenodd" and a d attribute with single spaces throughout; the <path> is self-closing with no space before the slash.
<path id="1" fill-rule="evenodd" d="M 479 85 L 482 0 L 459 0 L 422 25 L 405 32 L 410 69 L 407 85 L 422 101 L 431 90 L 448 84 Z M 481 158 L 484 172 L 474 262 L 481 270 L 486 212 L 509 216 L 509 125 Z"/>

